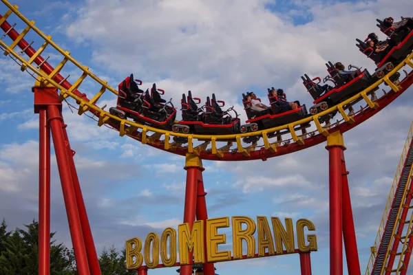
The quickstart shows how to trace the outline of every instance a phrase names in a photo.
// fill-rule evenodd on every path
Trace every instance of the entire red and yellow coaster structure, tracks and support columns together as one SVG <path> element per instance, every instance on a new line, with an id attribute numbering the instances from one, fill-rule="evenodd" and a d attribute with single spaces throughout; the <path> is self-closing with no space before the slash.
<path id="1" fill-rule="evenodd" d="M 315 146 L 316 144 L 321 144 L 322 142 L 327 142 L 326 148 L 329 151 L 330 167 L 330 274 L 343 274 L 342 237 L 346 248 L 349 274 L 360 274 L 357 243 L 352 220 L 350 191 L 348 190 L 347 170 L 343 157 L 343 151 L 346 147 L 343 143 L 342 134 L 385 108 L 412 85 L 413 72 L 407 73 L 404 68 L 407 66 L 413 67 L 413 54 L 405 56 L 399 64 L 394 65 L 394 67 L 389 69 L 381 78 L 377 78 L 374 83 L 358 91 L 357 94 L 351 95 L 350 98 L 334 106 L 329 106 L 328 109 L 321 110 L 321 112 L 317 112 L 317 114 L 310 115 L 304 119 L 275 126 L 270 129 L 258 129 L 257 131 L 247 133 L 227 135 L 177 133 L 126 120 L 120 118 L 118 115 L 105 111 L 104 107 L 98 107 L 96 104 L 105 91 L 109 90 L 116 96 L 118 96 L 118 91 L 109 86 L 105 80 L 101 80 L 92 74 L 92 72 L 89 72 L 89 69 L 72 58 L 69 52 L 62 50 L 61 47 L 52 41 L 50 36 L 46 36 L 36 28 L 33 21 L 29 21 L 23 17 L 23 14 L 18 11 L 17 5 L 12 5 L 6 0 L 1 1 L 9 8 L 9 10 L 0 17 L 0 26 L 4 32 L 2 38 L 8 38 L 11 41 L 11 43 L 8 44 L 1 40 L 1 48 L 6 56 L 10 56 L 10 58 L 21 66 L 23 72 L 30 71 L 29 74 L 36 78 L 36 85 L 32 91 L 34 92 L 34 111 L 35 113 L 39 113 L 40 126 L 39 274 L 49 274 L 50 264 L 50 132 L 52 133 L 54 142 L 79 274 L 100 274 L 92 232 L 89 227 L 87 212 L 81 195 L 81 187 L 76 175 L 73 159 L 74 151 L 70 148 L 66 133 L 67 125 L 64 123 L 62 115 L 62 102 L 68 98 L 74 99 L 76 104 L 78 104 L 79 115 L 92 113 L 92 115 L 96 117 L 98 126 L 109 126 L 118 131 L 120 136 L 127 135 L 153 148 L 186 156 L 184 168 L 187 170 L 187 188 L 185 192 L 184 222 L 189 223 L 190 226 L 193 221 L 195 221 L 195 218 L 198 220 L 208 218 L 205 200 L 205 195 L 207 194 L 204 192 L 202 179 L 202 170 L 204 170 L 204 168 L 202 168 L 202 159 L 220 161 L 266 160 L 271 157 L 293 153 L 304 150 L 310 146 Z M 10 25 L 7 21 L 11 15 L 23 21 L 26 25 L 20 34 L 14 29 L 16 24 Z M 28 34 L 30 30 L 36 34 L 37 39 L 44 41 L 38 50 L 34 50 L 32 47 L 33 42 L 28 43 L 24 39 L 24 36 Z M 56 67 L 52 67 L 52 65 L 47 62 L 48 57 L 43 58 L 41 56 L 48 45 L 52 46 L 63 56 L 63 61 L 59 63 L 59 65 L 56 65 Z M 21 48 L 21 52 L 14 50 L 17 46 Z M 23 58 L 22 54 L 27 54 L 28 58 Z M 67 63 L 74 65 L 76 69 L 81 72 L 80 78 L 75 80 L 73 85 L 67 80 L 69 76 L 63 77 L 61 75 L 63 67 Z M 394 74 L 399 74 L 398 72 L 401 70 L 404 70 L 405 77 L 395 84 L 391 78 Z M 90 100 L 85 94 L 79 91 L 83 81 L 87 77 L 94 80 L 98 85 L 101 85 L 100 91 Z M 383 89 L 383 96 L 377 98 L 375 91 L 377 91 L 382 84 L 388 85 L 390 91 Z M 370 99 L 369 96 L 372 96 L 372 99 Z M 366 102 L 366 107 L 361 107 L 357 112 L 352 111 L 350 109 L 352 104 L 354 104 L 354 102 L 360 102 L 361 100 Z M 348 109 L 350 113 L 346 113 L 346 109 Z M 332 113 L 339 113 L 342 119 L 337 120 L 337 122 L 332 125 L 321 126 L 319 118 L 324 118 Z M 315 129 L 310 132 L 302 131 L 302 134 L 298 135 L 296 126 L 299 127 L 302 124 L 312 124 L 315 126 Z M 170 142 L 171 137 L 180 137 L 185 140 L 185 144 L 187 145 L 185 146 L 183 143 L 180 143 L 180 140 L 178 140 L 178 142 Z M 244 137 L 260 137 L 262 138 L 262 144 L 258 144 L 257 140 L 255 140 L 255 142 L 250 142 L 252 143 L 251 145 L 245 146 L 242 143 Z M 273 142 L 271 140 L 273 137 L 276 137 L 277 141 Z M 197 142 L 200 144 L 196 144 Z M 410 142 L 409 144 L 411 145 Z M 222 143 L 225 145 L 218 147 L 218 144 Z M 399 230 L 401 230 L 400 228 L 403 229 L 403 225 L 407 223 L 407 221 L 401 221 L 401 218 L 405 218 L 405 205 L 407 205 L 407 202 L 410 203 L 411 199 L 410 192 L 407 192 L 407 189 L 405 189 L 406 186 L 408 186 L 407 182 L 411 180 L 410 149 L 408 152 L 408 154 L 405 153 L 405 155 L 402 155 L 402 159 L 403 156 L 405 158 L 403 169 L 401 169 L 403 173 L 400 172 L 400 180 L 397 181 L 394 189 L 394 198 L 391 198 L 392 193 L 390 193 L 389 201 L 392 201 L 392 207 L 388 208 L 386 206 L 383 217 L 387 215 L 387 222 L 385 222 L 384 225 L 383 218 L 383 229 L 381 229 L 382 231 L 379 230 L 378 235 L 378 238 L 380 235 L 381 237 L 377 239 L 372 248 L 371 259 L 374 261 L 370 261 L 371 263 L 369 263 L 366 274 L 367 272 L 368 274 L 370 274 L 370 272 L 371 274 L 383 274 L 384 270 L 385 272 L 393 272 L 392 262 L 394 262 L 394 255 L 398 253 L 396 251 L 398 251 L 399 248 L 396 243 L 401 240 L 401 236 L 396 234 L 396 232 L 399 232 Z M 410 171 L 407 174 L 407 178 L 406 170 Z M 410 186 L 411 185 L 412 184 L 410 184 Z M 400 201 L 406 201 L 406 203 L 401 203 Z M 386 211 L 388 211 L 387 214 Z M 412 223 L 412 221 L 410 221 L 410 223 Z M 405 239 L 407 239 L 407 237 L 405 237 Z M 409 248 L 411 249 L 413 241 L 410 242 L 409 238 L 405 244 L 406 243 L 407 245 L 403 245 L 401 254 L 397 255 L 404 256 L 403 259 L 406 259 L 406 261 L 402 261 L 400 264 L 400 274 L 405 274 L 407 270 L 407 255 L 410 255 L 411 250 L 409 250 Z M 310 252 L 300 254 L 300 263 L 301 274 L 311 274 Z M 176 265 L 180 264 L 176 263 Z M 372 266 L 371 268 L 370 265 Z M 162 267 L 162 265 L 159 265 L 159 267 Z M 204 263 L 203 268 L 204 274 L 214 274 L 213 263 Z M 399 270 L 396 272 L 399 272 Z M 137 272 L 139 275 L 144 275 L 147 274 L 148 269 L 145 266 L 141 266 Z M 182 265 L 180 274 L 191 274 L 191 265 Z"/>

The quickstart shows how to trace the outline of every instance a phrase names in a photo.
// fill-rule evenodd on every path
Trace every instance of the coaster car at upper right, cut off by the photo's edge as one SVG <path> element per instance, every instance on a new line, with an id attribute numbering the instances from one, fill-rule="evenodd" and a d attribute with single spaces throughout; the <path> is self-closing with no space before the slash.
<path id="1" fill-rule="evenodd" d="M 394 69 L 394 66 L 398 65 L 403 59 L 410 54 L 413 50 L 413 32 L 410 32 L 405 36 L 403 41 L 394 43 L 394 41 L 383 41 L 387 42 L 389 46 L 383 52 L 374 52 L 374 49 L 367 45 L 367 41 L 371 39 L 376 43 L 379 43 L 376 34 L 369 34 L 368 38 L 364 41 L 356 39 L 358 42 L 357 47 L 359 47 L 360 52 L 366 54 L 366 56 L 377 65 L 376 74 L 379 78 L 382 78 L 388 72 Z M 383 43 L 382 42 L 382 43 Z"/>

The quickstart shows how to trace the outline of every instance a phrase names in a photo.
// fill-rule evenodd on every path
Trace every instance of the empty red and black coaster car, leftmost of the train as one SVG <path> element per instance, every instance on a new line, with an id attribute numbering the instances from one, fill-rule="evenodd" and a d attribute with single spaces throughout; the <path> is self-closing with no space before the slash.
<path id="1" fill-rule="evenodd" d="M 136 80 L 139 85 L 142 81 Z M 111 107 L 109 112 L 112 115 L 117 115 L 119 118 L 132 118 L 135 122 L 148 124 L 158 129 L 169 130 L 175 122 L 176 109 L 173 107 L 172 98 L 169 102 L 162 99 L 165 91 L 156 89 L 156 84 L 145 92 L 139 89 L 134 81 L 134 75 L 125 78 L 118 87 L 118 102 L 116 107 Z M 169 106 L 170 104 L 170 106 Z"/>

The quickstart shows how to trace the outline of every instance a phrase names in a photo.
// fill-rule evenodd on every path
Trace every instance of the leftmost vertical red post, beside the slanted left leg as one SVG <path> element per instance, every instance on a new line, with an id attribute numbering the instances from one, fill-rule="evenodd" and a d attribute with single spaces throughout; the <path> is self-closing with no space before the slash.
<path id="1" fill-rule="evenodd" d="M 50 274 L 50 128 L 39 110 L 39 275 Z"/>

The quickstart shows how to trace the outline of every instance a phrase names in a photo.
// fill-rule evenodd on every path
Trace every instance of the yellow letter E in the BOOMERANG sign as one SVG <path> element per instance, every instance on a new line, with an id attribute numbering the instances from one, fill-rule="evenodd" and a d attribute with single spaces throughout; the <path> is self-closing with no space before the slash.
<path id="1" fill-rule="evenodd" d="M 218 228 L 229 227 L 229 217 L 207 219 L 207 259 L 211 261 L 231 260 L 231 251 L 218 252 L 218 245 L 226 243 L 225 234 L 218 234 Z"/>

